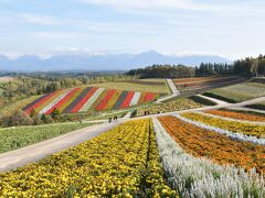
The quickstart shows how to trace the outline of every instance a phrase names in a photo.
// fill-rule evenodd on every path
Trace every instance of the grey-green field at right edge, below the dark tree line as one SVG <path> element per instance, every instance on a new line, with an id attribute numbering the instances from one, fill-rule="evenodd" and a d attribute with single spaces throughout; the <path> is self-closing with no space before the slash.
<path id="1" fill-rule="evenodd" d="M 241 102 L 265 96 L 265 84 L 243 82 L 222 87 L 204 92 L 203 95 L 227 102 Z"/>

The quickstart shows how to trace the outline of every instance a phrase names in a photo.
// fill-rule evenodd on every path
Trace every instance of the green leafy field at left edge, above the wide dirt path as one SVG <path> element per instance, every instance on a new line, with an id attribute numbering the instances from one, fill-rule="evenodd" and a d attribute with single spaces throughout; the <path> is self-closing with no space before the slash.
<path id="1" fill-rule="evenodd" d="M 0 153 L 24 147 L 88 125 L 91 123 L 2 128 L 0 129 Z"/>

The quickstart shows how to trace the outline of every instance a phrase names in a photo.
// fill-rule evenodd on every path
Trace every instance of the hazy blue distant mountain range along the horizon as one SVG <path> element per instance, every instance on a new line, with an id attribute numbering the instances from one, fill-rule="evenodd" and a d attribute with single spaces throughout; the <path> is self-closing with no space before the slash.
<path id="1" fill-rule="evenodd" d="M 183 64 L 197 66 L 201 63 L 231 63 L 215 55 L 163 55 L 156 51 L 141 54 L 106 54 L 91 55 L 85 53 L 53 55 L 41 58 L 36 55 L 23 55 L 10 59 L 0 55 L 0 70 L 10 72 L 50 72 L 50 70 L 128 70 L 153 64 Z"/>

